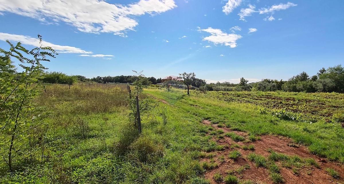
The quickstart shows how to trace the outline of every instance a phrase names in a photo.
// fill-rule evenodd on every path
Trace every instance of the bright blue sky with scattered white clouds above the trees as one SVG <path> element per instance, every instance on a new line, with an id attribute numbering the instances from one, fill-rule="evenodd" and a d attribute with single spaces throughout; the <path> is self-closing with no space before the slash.
<path id="1" fill-rule="evenodd" d="M 68 75 L 286 80 L 344 64 L 343 0 L 0 0 L 0 48 L 54 48 Z M 17 63 L 16 63 L 17 64 Z"/>

